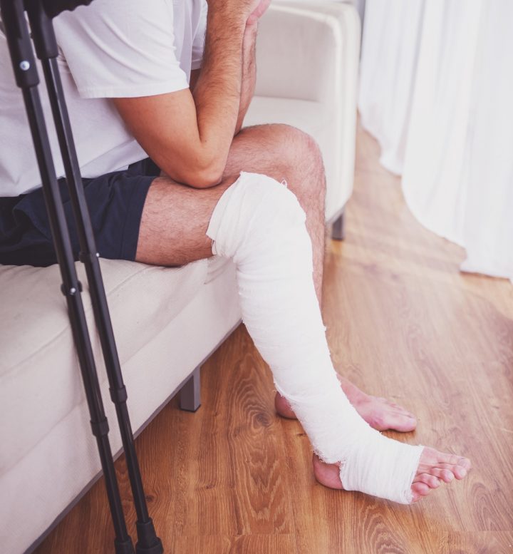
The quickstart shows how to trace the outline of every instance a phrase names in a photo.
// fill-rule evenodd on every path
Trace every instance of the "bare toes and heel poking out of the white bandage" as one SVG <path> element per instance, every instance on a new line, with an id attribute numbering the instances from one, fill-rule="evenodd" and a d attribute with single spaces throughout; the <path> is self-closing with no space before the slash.
<path id="1" fill-rule="evenodd" d="M 427 496 L 434 488 L 438 488 L 442 481 L 450 483 L 455 478 L 464 478 L 470 466 L 470 460 L 467 458 L 425 447 L 411 486 L 413 502 Z M 321 485 L 343 489 L 338 463 L 324 463 L 314 454 L 314 474 Z"/>

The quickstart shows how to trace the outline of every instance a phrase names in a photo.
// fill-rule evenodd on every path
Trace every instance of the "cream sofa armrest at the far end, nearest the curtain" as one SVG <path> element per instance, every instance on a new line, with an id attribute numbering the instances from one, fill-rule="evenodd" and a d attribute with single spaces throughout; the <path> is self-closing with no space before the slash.
<path id="1" fill-rule="evenodd" d="M 281 0 L 261 19 L 257 40 L 257 98 L 246 123 L 286 123 L 317 140 L 329 222 L 353 190 L 360 34 L 351 4 Z"/>

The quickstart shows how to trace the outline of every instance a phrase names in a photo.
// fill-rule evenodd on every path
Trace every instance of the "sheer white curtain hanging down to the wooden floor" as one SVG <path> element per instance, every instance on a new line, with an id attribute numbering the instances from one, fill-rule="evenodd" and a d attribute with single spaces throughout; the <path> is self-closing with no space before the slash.
<path id="1" fill-rule="evenodd" d="M 415 217 L 510 279 L 512 21 L 512 0 L 367 0 L 358 101 Z"/>

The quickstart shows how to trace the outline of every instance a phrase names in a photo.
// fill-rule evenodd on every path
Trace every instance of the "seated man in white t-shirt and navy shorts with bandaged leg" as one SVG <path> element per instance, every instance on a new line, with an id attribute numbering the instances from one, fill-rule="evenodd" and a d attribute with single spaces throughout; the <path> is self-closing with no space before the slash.
<path id="1" fill-rule="evenodd" d="M 333 369 L 319 308 L 321 155 L 285 125 L 242 130 L 268 5 L 210 0 L 207 11 L 202 0 L 95 0 L 56 19 L 98 251 L 155 265 L 232 258 L 244 323 L 279 391 L 276 409 L 303 424 L 318 481 L 417 501 L 463 478 L 470 462 L 382 436 L 414 429 L 414 417 Z M 0 263 L 50 265 L 56 257 L 5 41 L 0 68 Z M 63 175 L 62 164 L 57 170 Z M 73 233 L 72 242 L 78 256 Z"/>

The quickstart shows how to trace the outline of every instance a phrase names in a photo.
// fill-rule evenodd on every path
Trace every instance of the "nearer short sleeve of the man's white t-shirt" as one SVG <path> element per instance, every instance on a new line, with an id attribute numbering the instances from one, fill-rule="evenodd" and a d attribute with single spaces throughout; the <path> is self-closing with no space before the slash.
<path id="1" fill-rule="evenodd" d="M 83 98 L 126 98 L 189 86 L 175 54 L 170 0 L 95 0 L 55 20 L 59 48 Z"/>

